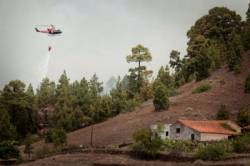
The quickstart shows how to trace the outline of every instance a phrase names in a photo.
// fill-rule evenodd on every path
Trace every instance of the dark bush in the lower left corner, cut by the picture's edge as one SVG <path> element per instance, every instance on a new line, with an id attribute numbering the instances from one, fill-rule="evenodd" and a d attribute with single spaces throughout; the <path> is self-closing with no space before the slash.
<path id="1" fill-rule="evenodd" d="M 10 158 L 19 158 L 20 152 L 14 146 L 14 142 L 5 141 L 0 143 L 0 158 L 1 159 L 10 159 Z"/>

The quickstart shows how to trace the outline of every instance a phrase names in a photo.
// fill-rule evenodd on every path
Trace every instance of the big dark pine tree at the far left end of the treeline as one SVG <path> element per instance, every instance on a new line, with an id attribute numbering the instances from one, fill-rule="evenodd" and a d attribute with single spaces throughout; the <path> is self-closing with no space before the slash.
<path id="1" fill-rule="evenodd" d="M 2 92 L 2 106 L 10 115 L 10 122 L 16 128 L 19 138 L 36 131 L 36 113 L 33 103 L 25 92 L 25 84 L 19 80 L 10 81 Z"/>

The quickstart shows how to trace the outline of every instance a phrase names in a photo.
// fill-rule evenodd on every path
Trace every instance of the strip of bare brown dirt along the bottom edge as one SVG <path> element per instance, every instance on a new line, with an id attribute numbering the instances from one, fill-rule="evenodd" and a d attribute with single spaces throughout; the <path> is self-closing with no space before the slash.
<path id="1" fill-rule="evenodd" d="M 113 155 L 100 153 L 64 154 L 39 159 L 21 166 L 243 166 L 250 163 L 250 159 L 235 159 L 227 161 L 169 162 L 160 160 L 139 160 L 127 155 Z"/>

